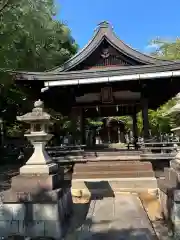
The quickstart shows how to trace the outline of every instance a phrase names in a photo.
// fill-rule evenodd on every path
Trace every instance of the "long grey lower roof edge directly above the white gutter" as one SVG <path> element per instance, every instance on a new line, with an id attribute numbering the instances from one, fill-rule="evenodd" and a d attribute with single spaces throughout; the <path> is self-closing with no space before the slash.
<path id="1" fill-rule="evenodd" d="M 83 79 L 83 78 L 94 78 L 94 77 L 109 77 L 109 76 L 123 76 L 132 74 L 150 74 L 168 71 L 179 71 L 180 62 L 171 62 L 164 64 L 148 64 L 138 66 L 126 66 L 106 69 L 90 69 L 82 71 L 71 71 L 66 72 L 22 72 L 22 71 L 11 71 L 11 74 L 15 76 L 17 80 L 72 80 L 72 79 Z"/>

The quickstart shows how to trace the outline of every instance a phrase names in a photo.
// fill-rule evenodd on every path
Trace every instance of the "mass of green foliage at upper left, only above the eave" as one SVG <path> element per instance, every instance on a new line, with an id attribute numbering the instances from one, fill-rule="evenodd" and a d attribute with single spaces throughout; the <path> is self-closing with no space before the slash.
<path id="1" fill-rule="evenodd" d="M 77 50 L 70 31 L 53 20 L 52 0 L 19 0 L 0 13 L 0 67 L 43 71 Z"/>

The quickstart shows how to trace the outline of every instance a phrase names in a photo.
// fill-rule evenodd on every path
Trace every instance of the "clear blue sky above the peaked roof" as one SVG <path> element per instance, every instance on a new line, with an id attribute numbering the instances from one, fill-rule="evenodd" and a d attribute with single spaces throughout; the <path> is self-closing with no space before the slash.
<path id="1" fill-rule="evenodd" d="M 71 29 L 80 48 L 92 37 L 97 24 L 109 21 L 121 40 L 149 51 L 156 37 L 180 36 L 180 0 L 56 0 L 57 18 Z"/>

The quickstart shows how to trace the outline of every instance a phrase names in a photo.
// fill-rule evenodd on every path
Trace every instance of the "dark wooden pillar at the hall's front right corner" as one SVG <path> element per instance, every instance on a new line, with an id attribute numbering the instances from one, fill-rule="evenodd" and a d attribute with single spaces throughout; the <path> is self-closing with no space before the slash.
<path id="1" fill-rule="evenodd" d="M 148 99 L 142 98 L 142 119 L 143 119 L 143 135 L 144 139 L 149 138 L 149 118 L 148 118 Z"/>

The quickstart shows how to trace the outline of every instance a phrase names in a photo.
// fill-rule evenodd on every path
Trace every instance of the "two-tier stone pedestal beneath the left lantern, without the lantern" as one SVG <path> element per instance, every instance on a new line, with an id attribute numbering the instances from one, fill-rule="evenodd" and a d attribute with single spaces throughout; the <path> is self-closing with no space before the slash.
<path id="1" fill-rule="evenodd" d="M 12 179 L 12 188 L 1 192 L 0 237 L 63 237 L 73 202 L 70 188 L 53 190 L 56 180 L 56 175 Z"/>

